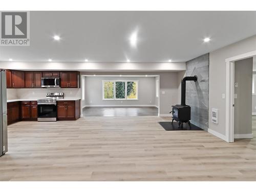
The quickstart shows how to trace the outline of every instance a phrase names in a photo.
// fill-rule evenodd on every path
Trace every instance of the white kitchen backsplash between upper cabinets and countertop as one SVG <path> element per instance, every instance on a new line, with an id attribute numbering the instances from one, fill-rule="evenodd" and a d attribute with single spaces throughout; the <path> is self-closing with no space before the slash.
<path id="1" fill-rule="evenodd" d="M 47 93 L 63 92 L 65 97 L 81 97 L 80 89 L 46 88 L 46 89 L 7 89 L 7 100 L 45 98 Z"/>

